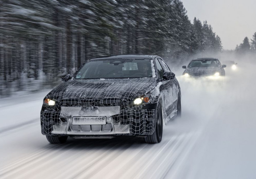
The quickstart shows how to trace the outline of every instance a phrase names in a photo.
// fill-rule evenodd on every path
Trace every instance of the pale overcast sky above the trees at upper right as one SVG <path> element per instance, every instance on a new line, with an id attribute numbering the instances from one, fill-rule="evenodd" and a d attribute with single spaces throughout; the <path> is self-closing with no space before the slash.
<path id="1" fill-rule="evenodd" d="M 193 23 L 206 20 L 224 49 L 234 49 L 256 32 L 256 0 L 181 0 Z M 251 40 L 250 40 L 251 42 Z"/>

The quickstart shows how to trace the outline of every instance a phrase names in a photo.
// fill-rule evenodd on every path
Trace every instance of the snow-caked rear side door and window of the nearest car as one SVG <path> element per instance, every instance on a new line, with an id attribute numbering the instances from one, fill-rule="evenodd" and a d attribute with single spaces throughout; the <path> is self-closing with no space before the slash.
<path id="1" fill-rule="evenodd" d="M 158 58 L 160 64 L 163 67 L 164 72 L 171 72 L 168 65 L 164 62 L 162 58 Z M 168 80 L 167 83 L 169 87 L 169 95 L 167 96 L 167 99 L 170 101 L 167 106 L 167 114 L 169 118 L 172 118 L 176 115 L 176 108 L 177 108 L 177 102 L 178 102 L 178 93 L 179 93 L 179 84 L 178 80 L 176 78 Z"/>

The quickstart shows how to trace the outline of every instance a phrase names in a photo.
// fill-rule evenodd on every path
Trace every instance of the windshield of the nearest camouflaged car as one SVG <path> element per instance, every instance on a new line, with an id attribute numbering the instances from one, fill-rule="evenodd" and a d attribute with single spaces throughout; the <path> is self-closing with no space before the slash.
<path id="1" fill-rule="evenodd" d="M 150 60 L 103 59 L 90 60 L 76 74 L 75 79 L 145 78 L 152 77 Z"/>

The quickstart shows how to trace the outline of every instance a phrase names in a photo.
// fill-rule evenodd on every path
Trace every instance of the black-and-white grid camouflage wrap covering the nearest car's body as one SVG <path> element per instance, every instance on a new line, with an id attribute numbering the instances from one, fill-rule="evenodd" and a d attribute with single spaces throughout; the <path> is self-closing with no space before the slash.
<path id="1" fill-rule="evenodd" d="M 108 58 L 123 57 L 112 56 Z M 130 56 L 126 56 L 129 58 Z M 157 56 L 132 56 L 151 60 L 152 78 L 132 79 L 75 79 L 53 89 L 45 99 L 55 105 L 43 104 L 41 132 L 59 136 L 147 136 L 155 130 L 155 113 L 161 102 L 165 122 L 175 116 L 179 84 L 159 79 L 154 59 Z M 105 59 L 101 58 L 101 59 Z M 158 57 L 160 58 L 160 57 Z M 175 86 L 175 87 L 174 87 Z M 173 95 L 174 94 L 174 95 Z M 149 97 L 149 102 L 135 105 L 133 100 Z M 73 116 L 107 117 L 106 125 L 73 125 Z"/>

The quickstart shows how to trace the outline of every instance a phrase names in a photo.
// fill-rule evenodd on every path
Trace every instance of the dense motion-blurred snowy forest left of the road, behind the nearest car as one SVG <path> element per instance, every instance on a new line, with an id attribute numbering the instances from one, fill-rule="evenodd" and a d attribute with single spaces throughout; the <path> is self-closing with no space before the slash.
<path id="1" fill-rule="evenodd" d="M 0 0 L 0 96 L 52 88 L 92 57 L 221 51 L 180 0 Z"/>

